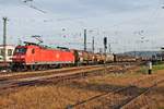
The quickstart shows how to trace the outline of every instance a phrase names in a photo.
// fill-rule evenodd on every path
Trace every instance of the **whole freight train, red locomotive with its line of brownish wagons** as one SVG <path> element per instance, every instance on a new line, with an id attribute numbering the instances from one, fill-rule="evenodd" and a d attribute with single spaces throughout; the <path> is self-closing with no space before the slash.
<path id="1" fill-rule="evenodd" d="M 34 43 L 15 47 L 12 71 L 45 70 L 68 65 L 102 64 L 109 62 L 136 61 L 134 57 L 118 57 L 112 53 L 93 53 L 65 47 L 49 48 Z"/>

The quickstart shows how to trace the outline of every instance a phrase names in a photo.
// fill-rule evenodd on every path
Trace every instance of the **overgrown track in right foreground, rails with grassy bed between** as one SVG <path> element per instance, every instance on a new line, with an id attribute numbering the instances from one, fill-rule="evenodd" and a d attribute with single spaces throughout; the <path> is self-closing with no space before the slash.
<path id="1" fill-rule="evenodd" d="M 159 76 L 149 76 L 147 78 L 139 80 L 132 84 L 109 90 L 89 99 L 82 100 L 74 105 L 70 105 L 67 109 L 79 109 L 79 108 L 103 108 L 103 109 L 141 109 L 148 106 L 147 99 L 144 96 L 150 93 L 157 84 L 164 82 L 157 78 Z M 143 82 L 145 83 L 149 80 L 149 87 L 142 87 Z M 141 87 L 139 87 L 139 84 Z M 148 84 L 147 84 L 148 85 Z M 96 105 L 95 102 L 98 102 Z M 137 104 L 139 102 L 139 104 Z"/>

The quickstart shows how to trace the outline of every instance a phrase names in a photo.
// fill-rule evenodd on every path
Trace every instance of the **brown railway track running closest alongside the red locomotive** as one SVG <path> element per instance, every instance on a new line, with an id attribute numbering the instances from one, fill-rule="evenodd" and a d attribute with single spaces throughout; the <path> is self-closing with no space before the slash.
<path id="1" fill-rule="evenodd" d="M 131 66 L 133 64 L 128 64 L 128 63 L 109 63 L 106 64 L 106 66 L 112 68 L 112 69 L 116 69 L 116 68 L 128 68 Z M 122 66 L 124 65 L 124 66 Z M 138 65 L 136 63 L 136 65 Z M 65 68 L 65 69 L 55 69 L 55 70 L 47 70 L 47 71 L 35 71 L 35 72 L 17 72 L 17 73 L 4 73 L 4 74 L 0 74 L 0 82 L 1 81 L 5 81 L 5 80 L 16 80 L 16 78 L 24 78 L 24 77 L 36 77 L 36 76 L 46 76 L 46 75 L 50 75 L 50 74 L 59 74 L 59 73 L 67 73 L 67 72 L 71 72 L 71 71 L 80 71 L 80 70 L 85 70 L 85 69 L 94 69 L 94 68 L 104 68 L 104 65 L 87 65 L 87 66 L 78 66 L 78 68 Z"/>

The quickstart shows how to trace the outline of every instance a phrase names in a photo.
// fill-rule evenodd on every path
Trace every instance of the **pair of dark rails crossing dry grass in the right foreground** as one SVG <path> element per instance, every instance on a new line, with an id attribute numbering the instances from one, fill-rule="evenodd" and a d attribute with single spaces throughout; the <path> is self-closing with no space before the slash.
<path id="1" fill-rule="evenodd" d="M 147 77 L 147 78 L 149 78 L 149 77 Z M 89 104 L 89 102 L 92 101 L 92 100 L 97 100 L 97 99 L 99 99 L 99 98 L 102 98 L 102 97 L 105 97 L 105 96 L 112 96 L 112 95 L 115 95 L 115 94 L 119 94 L 119 93 L 124 93 L 124 92 L 127 92 L 127 90 L 131 90 L 132 88 L 137 88 L 137 86 L 136 86 L 137 84 L 141 83 L 141 81 L 144 81 L 144 80 L 147 80 L 147 78 L 136 81 L 134 83 L 132 83 L 132 84 L 130 84 L 130 85 L 128 85 L 128 86 L 126 86 L 126 87 L 113 89 L 113 90 L 110 90 L 110 92 L 96 95 L 96 96 L 91 97 L 91 98 L 89 98 L 89 99 L 82 100 L 82 101 L 80 101 L 80 102 L 78 102 L 78 104 L 69 105 L 69 106 L 67 107 L 67 109 L 73 109 L 73 108 L 75 108 L 75 107 L 79 107 L 79 106 Z M 152 77 L 150 77 L 150 78 L 152 78 Z M 129 97 L 129 98 L 126 99 L 125 101 L 122 100 L 122 101 L 121 101 L 122 104 L 113 105 L 113 106 L 112 106 L 113 109 L 120 109 L 120 108 L 125 109 L 124 107 L 126 107 L 127 105 L 133 102 L 133 100 L 136 100 L 138 97 L 140 97 L 140 96 L 147 94 L 148 92 L 150 92 L 153 87 L 156 86 L 156 84 L 160 84 L 160 83 L 163 83 L 163 82 L 164 82 L 164 80 L 159 81 L 159 82 L 155 82 L 155 83 L 154 83 L 152 86 L 150 86 L 149 88 L 147 88 L 147 89 L 144 89 L 144 90 L 138 93 L 137 95 L 134 95 L 134 96 L 132 96 L 132 97 Z M 142 82 L 141 84 L 143 84 L 143 82 Z M 116 99 L 113 99 L 113 100 L 116 100 Z"/>

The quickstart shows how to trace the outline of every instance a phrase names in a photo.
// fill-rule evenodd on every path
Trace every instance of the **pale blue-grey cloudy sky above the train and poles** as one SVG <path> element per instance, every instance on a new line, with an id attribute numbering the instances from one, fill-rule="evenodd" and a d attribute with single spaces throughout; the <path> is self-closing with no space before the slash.
<path id="1" fill-rule="evenodd" d="M 0 44 L 2 17 L 8 21 L 8 44 L 36 41 L 45 45 L 87 49 L 95 39 L 96 51 L 108 38 L 113 52 L 160 50 L 164 46 L 164 0 L 0 0 Z M 34 9 L 35 8 L 35 9 Z"/>

